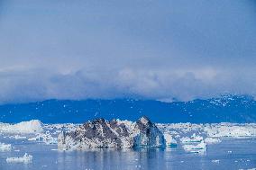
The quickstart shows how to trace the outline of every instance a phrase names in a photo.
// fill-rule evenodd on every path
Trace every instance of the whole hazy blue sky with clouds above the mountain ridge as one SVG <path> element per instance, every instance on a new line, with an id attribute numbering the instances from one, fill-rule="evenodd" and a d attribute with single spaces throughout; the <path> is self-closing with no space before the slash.
<path id="1" fill-rule="evenodd" d="M 0 0 L 0 103 L 256 96 L 253 0 Z"/>

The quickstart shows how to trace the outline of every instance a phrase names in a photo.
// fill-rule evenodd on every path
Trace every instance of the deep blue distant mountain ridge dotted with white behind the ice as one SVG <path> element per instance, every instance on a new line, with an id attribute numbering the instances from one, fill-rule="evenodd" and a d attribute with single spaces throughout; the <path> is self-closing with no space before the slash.
<path id="1" fill-rule="evenodd" d="M 45 123 L 85 122 L 95 118 L 135 121 L 142 115 L 154 122 L 256 122 L 256 102 L 247 95 L 162 103 L 132 99 L 61 101 L 0 105 L 0 121 L 32 119 Z"/>

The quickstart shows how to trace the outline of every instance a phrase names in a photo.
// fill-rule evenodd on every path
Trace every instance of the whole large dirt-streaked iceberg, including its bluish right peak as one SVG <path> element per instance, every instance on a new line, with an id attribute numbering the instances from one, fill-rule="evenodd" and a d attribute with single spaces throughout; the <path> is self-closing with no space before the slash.
<path id="1" fill-rule="evenodd" d="M 88 121 L 58 138 L 59 149 L 164 147 L 163 134 L 148 118 L 136 122 Z"/>

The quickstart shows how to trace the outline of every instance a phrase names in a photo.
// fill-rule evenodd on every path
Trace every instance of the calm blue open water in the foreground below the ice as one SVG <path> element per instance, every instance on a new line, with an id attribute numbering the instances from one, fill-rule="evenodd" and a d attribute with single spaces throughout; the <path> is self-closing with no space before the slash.
<path id="1" fill-rule="evenodd" d="M 6 142 L 7 143 L 7 142 Z M 132 170 L 132 169 L 249 169 L 256 167 L 256 139 L 225 139 L 208 145 L 205 154 L 183 148 L 96 149 L 61 152 L 56 145 L 14 142 L 10 152 L 0 152 L 1 170 Z M 19 149 L 20 151 L 14 151 Z M 231 153 L 232 151 L 232 153 Z M 6 157 L 33 156 L 31 164 L 8 164 Z M 218 161 L 214 161 L 218 160 Z"/>

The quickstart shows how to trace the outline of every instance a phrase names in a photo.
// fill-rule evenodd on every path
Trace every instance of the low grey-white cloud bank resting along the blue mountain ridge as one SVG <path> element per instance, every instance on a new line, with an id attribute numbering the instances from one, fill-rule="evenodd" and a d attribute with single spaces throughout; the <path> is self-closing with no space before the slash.
<path id="1" fill-rule="evenodd" d="M 256 75 L 211 67 L 197 69 L 81 69 L 69 73 L 45 69 L 0 72 L 0 102 L 46 99 L 133 97 L 171 102 L 219 94 L 255 94 Z M 252 73 L 252 72 L 251 72 Z"/>

